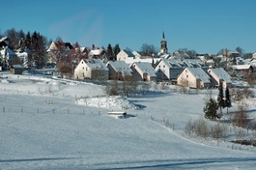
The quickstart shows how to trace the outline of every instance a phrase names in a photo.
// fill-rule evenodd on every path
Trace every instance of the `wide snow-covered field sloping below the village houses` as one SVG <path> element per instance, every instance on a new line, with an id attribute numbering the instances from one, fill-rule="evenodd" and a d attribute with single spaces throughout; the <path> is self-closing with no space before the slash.
<path id="1" fill-rule="evenodd" d="M 0 94 L 0 169 L 256 166 L 254 147 L 185 134 L 188 120 L 203 117 L 202 93 L 155 91 L 112 98 L 100 85 L 1 72 Z M 254 100 L 249 103 L 255 109 Z M 107 115 L 123 109 L 127 119 Z"/>

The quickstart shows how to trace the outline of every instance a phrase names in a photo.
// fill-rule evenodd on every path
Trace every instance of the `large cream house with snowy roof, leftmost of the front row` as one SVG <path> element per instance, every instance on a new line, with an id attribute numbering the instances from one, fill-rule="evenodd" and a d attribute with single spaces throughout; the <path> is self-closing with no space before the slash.
<path id="1" fill-rule="evenodd" d="M 100 59 L 82 59 L 74 70 L 76 79 L 108 79 L 108 69 Z"/>

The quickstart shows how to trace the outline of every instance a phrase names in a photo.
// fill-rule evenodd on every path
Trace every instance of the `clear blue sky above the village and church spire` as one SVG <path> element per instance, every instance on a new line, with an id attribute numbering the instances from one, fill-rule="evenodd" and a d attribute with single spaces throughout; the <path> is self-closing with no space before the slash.
<path id="1" fill-rule="evenodd" d="M 1 33 L 15 28 L 81 46 L 139 50 L 143 43 L 159 48 L 164 31 L 169 52 L 256 51 L 256 0 L 14 0 L 1 7 Z"/>

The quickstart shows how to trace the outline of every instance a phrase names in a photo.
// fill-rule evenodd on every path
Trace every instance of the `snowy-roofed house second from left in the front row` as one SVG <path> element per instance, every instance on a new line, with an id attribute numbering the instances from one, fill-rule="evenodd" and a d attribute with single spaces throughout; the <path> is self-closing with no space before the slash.
<path id="1" fill-rule="evenodd" d="M 132 77 L 131 69 L 124 61 L 108 61 L 106 63 L 108 68 L 108 77 L 111 80 L 125 80 L 126 78 Z"/>

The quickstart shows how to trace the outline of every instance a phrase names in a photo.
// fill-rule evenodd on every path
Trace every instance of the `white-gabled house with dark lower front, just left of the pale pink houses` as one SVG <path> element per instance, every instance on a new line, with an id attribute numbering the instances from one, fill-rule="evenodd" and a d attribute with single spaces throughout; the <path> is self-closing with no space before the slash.
<path id="1" fill-rule="evenodd" d="M 161 59 L 155 67 L 158 80 L 170 80 L 175 84 L 184 70 L 185 64 L 179 59 Z"/>

